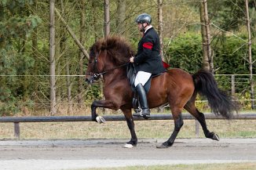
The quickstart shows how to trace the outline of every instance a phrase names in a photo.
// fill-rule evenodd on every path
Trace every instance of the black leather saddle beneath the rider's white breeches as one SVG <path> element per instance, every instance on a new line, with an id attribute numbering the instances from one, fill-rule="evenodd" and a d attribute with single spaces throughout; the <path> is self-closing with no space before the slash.
<path id="1" fill-rule="evenodd" d="M 134 92 L 134 96 L 133 96 L 133 109 L 138 109 L 139 108 L 139 97 L 137 95 L 137 91 L 135 89 L 135 85 L 134 85 L 134 81 L 135 81 L 135 78 L 136 78 L 136 74 L 137 74 L 137 71 L 135 70 L 135 67 L 133 65 L 133 63 L 129 63 L 126 67 L 127 69 L 127 78 L 130 82 L 130 86 Z M 151 81 L 152 81 L 152 78 L 155 78 L 159 75 L 161 75 L 163 73 L 160 73 L 160 74 L 152 74 L 151 77 L 148 79 L 148 81 L 146 82 L 146 84 L 144 85 L 144 90 L 146 93 L 149 92 L 149 89 L 151 87 Z"/>

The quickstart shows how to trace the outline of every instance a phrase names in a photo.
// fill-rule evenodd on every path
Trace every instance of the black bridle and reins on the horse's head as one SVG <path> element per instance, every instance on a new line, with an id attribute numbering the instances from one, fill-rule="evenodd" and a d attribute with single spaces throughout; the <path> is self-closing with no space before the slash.
<path id="1" fill-rule="evenodd" d="M 118 67 L 113 67 L 113 68 L 111 68 L 111 69 L 108 69 L 108 70 L 106 70 L 106 71 L 102 71 L 102 72 L 100 72 L 100 73 L 97 72 L 97 63 L 98 63 L 98 55 L 95 55 L 94 60 L 93 60 L 93 72 L 86 73 L 86 74 L 90 74 L 90 76 L 91 76 L 90 82 L 93 82 L 94 80 L 97 80 L 97 79 L 100 78 L 100 76 L 103 75 L 103 74 L 106 74 L 106 73 L 108 73 L 108 72 L 110 72 L 110 71 L 114 71 L 115 69 L 118 69 L 118 68 L 120 68 L 120 67 L 124 67 L 124 66 L 126 66 L 128 63 L 130 63 L 130 62 L 123 63 L 123 64 L 121 64 L 121 65 L 118 66 Z"/>

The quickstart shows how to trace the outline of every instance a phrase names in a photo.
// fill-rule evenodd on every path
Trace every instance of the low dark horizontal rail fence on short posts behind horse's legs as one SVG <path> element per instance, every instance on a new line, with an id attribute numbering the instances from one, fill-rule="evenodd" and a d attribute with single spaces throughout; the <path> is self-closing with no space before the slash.
<path id="1" fill-rule="evenodd" d="M 206 119 L 223 119 L 214 114 L 205 114 Z M 126 121 L 123 115 L 104 116 L 106 121 Z M 170 120 L 171 114 L 152 114 L 148 120 Z M 183 114 L 184 120 L 195 119 L 190 114 Z M 234 119 L 256 119 L 256 114 L 239 114 Z M 148 121 L 147 120 L 147 121 Z M 20 138 L 20 122 L 60 122 L 60 121 L 91 121 L 90 116 L 49 116 L 49 117 L 2 117 L 0 122 L 14 123 L 14 136 Z M 145 121 L 144 118 L 134 118 L 134 121 Z M 199 136 L 199 123 L 196 121 L 196 136 Z"/>

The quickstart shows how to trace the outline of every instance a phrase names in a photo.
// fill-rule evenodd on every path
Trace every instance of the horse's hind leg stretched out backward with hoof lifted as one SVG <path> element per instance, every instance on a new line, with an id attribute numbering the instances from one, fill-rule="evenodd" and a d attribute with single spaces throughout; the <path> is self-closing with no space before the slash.
<path id="1" fill-rule="evenodd" d="M 207 122 L 205 121 L 204 114 L 199 112 L 199 110 L 196 109 L 195 103 L 192 101 L 188 101 L 185 105 L 185 110 L 188 110 L 190 114 L 192 114 L 197 121 L 199 121 L 200 125 L 203 128 L 203 133 L 207 138 L 219 140 L 219 137 L 214 132 L 210 132 L 207 128 Z"/>

